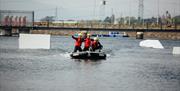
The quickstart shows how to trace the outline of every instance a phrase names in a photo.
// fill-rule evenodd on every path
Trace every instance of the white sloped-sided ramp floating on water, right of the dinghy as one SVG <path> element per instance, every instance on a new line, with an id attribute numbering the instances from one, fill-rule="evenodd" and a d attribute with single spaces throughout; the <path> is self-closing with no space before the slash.
<path id="1" fill-rule="evenodd" d="M 164 49 L 164 47 L 162 46 L 162 44 L 159 40 L 143 40 L 139 43 L 139 46 Z"/>

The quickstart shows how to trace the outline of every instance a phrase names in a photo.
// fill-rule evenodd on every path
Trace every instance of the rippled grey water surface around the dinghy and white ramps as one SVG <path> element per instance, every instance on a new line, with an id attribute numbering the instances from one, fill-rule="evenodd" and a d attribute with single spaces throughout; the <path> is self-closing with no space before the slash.
<path id="1" fill-rule="evenodd" d="M 106 60 L 69 57 L 74 40 L 52 36 L 49 50 L 18 49 L 18 37 L 0 37 L 0 91 L 180 91 L 180 41 L 141 48 L 133 38 L 101 38 Z"/>

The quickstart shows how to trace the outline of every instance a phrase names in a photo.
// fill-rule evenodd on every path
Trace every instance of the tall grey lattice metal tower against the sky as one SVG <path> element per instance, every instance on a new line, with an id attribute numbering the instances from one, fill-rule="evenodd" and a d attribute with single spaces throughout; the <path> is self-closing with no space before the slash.
<path id="1" fill-rule="evenodd" d="M 138 20 L 140 23 L 143 23 L 143 14 L 144 14 L 144 0 L 139 0 Z"/>

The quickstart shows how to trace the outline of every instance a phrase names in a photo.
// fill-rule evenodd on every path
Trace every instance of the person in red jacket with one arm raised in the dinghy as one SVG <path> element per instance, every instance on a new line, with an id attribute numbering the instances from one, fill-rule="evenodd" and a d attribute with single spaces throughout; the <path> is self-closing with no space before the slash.
<path id="1" fill-rule="evenodd" d="M 81 52 L 82 51 L 82 48 L 81 48 L 81 44 L 83 42 L 83 39 L 82 39 L 82 34 L 79 33 L 78 34 L 78 38 L 72 36 L 72 38 L 75 40 L 75 47 L 74 47 L 74 51 L 73 52 Z"/>

